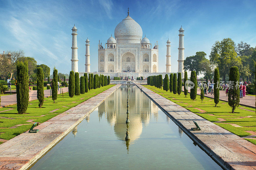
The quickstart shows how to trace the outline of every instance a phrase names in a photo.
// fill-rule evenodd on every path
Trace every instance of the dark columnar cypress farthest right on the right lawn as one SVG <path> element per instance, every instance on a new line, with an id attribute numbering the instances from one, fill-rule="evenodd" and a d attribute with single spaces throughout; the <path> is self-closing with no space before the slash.
<path id="1" fill-rule="evenodd" d="M 232 84 L 229 86 L 228 90 L 228 105 L 232 107 L 232 113 L 234 113 L 240 102 L 239 86 L 236 86 L 236 82 L 239 82 L 239 70 L 237 67 L 230 68 L 229 82 L 232 82 Z"/>

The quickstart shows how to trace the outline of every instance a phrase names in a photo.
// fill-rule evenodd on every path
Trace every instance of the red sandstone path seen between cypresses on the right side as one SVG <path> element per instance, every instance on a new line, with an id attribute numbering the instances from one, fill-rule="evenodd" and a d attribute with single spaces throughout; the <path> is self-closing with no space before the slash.
<path id="1" fill-rule="evenodd" d="M 184 86 L 182 86 L 184 91 Z M 190 89 L 188 89 L 188 92 L 190 92 Z M 197 89 L 197 94 L 201 94 L 200 89 Z M 211 95 L 211 93 L 204 94 L 206 97 L 214 98 L 214 94 Z M 220 90 L 220 100 L 228 101 L 228 96 L 225 93 L 224 90 Z M 240 99 L 240 104 L 248 107 L 254 107 L 255 108 L 255 96 L 249 96 L 246 95 L 245 97 Z"/>

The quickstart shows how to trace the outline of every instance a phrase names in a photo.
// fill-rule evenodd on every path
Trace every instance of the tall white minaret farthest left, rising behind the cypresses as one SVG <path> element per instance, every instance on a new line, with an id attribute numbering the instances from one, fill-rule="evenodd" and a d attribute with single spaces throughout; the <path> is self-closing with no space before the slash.
<path id="1" fill-rule="evenodd" d="M 72 28 L 72 59 L 71 59 L 71 70 L 74 72 L 78 72 L 78 57 L 77 57 L 77 33 L 76 33 L 76 26 L 74 24 Z"/>

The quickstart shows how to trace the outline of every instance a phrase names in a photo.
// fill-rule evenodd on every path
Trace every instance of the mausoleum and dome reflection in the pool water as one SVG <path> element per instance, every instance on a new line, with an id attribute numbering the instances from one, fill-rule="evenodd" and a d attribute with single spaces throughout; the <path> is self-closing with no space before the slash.
<path id="1" fill-rule="evenodd" d="M 140 92 L 137 86 L 130 85 L 129 88 L 129 144 L 132 144 L 140 138 L 142 127 L 148 125 L 151 116 L 153 121 L 157 121 L 158 107 L 143 92 Z M 128 86 L 122 85 L 98 107 L 99 119 L 101 119 L 100 115 L 105 113 L 107 122 L 114 126 L 116 137 L 125 143 L 128 128 L 125 122 L 127 120 L 127 93 Z"/>

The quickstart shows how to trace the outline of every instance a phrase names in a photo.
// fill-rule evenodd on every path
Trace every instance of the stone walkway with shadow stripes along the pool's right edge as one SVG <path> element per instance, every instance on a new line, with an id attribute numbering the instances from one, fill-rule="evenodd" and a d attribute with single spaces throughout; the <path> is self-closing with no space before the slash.
<path id="1" fill-rule="evenodd" d="M 179 127 L 214 160 L 226 169 L 256 169 L 256 145 L 215 125 L 212 122 L 188 111 L 163 96 L 142 88 L 156 104 L 176 123 Z M 197 122 L 200 131 L 192 131 Z"/>

